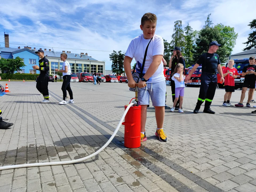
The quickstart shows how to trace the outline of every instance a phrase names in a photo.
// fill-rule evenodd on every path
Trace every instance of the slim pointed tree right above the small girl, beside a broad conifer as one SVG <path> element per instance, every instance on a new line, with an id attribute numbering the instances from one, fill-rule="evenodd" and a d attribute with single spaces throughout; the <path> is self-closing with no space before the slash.
<path id="1" fill-rule="evenodd" d="M 193 64 L 193 30 L 192 27 L 187 23 L 184 28 L 185 31 L 185 49 L 184 56 L 186 58 L 186 66 L 191 66 Z"/>

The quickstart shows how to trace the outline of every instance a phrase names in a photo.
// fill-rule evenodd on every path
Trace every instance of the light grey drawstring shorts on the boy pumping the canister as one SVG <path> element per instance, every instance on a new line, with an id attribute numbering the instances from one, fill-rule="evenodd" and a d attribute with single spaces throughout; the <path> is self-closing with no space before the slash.
<path id="1" fill-rule="evenodd" d="M 153 106 L 165 106 L 165 81 L 158 83 L 147 83 L 146 87 L 138 92 L 139 105 L 149 105 L 149 96 Z"/>

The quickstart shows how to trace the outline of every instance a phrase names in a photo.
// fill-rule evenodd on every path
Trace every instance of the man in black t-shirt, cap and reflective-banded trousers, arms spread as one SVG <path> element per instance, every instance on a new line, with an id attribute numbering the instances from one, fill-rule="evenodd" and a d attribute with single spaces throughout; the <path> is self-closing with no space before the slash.
<path id="1" fill-rule="evenodd" d="M 220 44 L 217 41 L 213 41 L 209 45 L 209 50 L 207 53 L 202 54 L 195 66 L 190 71 L 189 75 L 185 78 L 185 81 L 190 80 L 191 75 L 197 69 L 199 65 L 202 65 L 202 75 L 201 75 L 201 86 L 199 91 L 199 96 L 197 100 L 197 105 L 193 113 L 198 113 L 200 106 L 205 101 L 204 113 L 214 114 L 215 112 L 211 110 L 210 105 L 213 101 L 215 90 L 217 87 L 217 70 L 221 76 L 221 82 L 224 82 L 224 77 L 221 69 L 221 62 L 219 60 L 219 55 L 216 54 L 219 49 Z"/>

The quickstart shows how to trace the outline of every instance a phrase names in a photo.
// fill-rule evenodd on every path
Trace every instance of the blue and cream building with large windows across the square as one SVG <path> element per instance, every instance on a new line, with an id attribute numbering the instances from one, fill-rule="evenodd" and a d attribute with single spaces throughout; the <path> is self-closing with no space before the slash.
<path id="1" fill-rule="evenodd" d="M 41 48 L 40 48 L 41 49 Z M 31 50 L 31 47 L 24 47 L 24 49 L 9 48 L 9 47 L 0 47 L 0 58 L 11 59 L 20 57 L 23 59 L 25 67 L 21 68 L 21 71 L 17 73 L 30 73 L 30 74 L 39 74 L 38 70 L 34 70 L 32 68 L 33 65 L 38 65 L 39 57 L 35 54 L 35 47 Z M 47 51 L 44 49 L 44 55 L 49 60 L 49 74 L 50 75 L 57 75 L 55 69 L 62 69 L 62 61 L 60 59 L 62 52 L 56 51 Z M 81 72 L 88 72 L 88 73 L 103 73 L 105 74 L 105 61 L 97 61 L 96 59 L 90 57 L 84 53 L 71 53 L 70 51 L 66 52 L 67 54 L 67 61 L 70 63 L 71 73 L 81 73 Z M 6 73 L 6 71 L 2 71 L 2 73 Z"/>

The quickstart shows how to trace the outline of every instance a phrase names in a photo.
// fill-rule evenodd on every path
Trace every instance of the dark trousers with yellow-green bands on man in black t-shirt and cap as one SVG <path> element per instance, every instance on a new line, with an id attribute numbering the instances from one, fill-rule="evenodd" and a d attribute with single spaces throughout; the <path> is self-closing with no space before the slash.
<path id="1" fill-rule="evenodd" d="M 205 101 L 205 109 L 209 109 L 217 87 L 217 74 L 205 73 L 201 75 L 201 86 L 196 109 L 200 109 Z"/>

